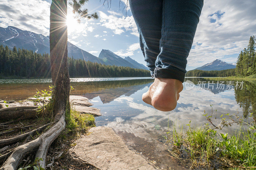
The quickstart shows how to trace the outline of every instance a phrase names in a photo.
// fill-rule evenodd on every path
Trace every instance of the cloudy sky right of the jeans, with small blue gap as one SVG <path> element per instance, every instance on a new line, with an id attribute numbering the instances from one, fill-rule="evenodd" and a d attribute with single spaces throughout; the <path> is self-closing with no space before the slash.
<path id="1" fill-rule="evenodd" d="M 256 3 L 249 0 L 204 1 L 188 66 L 202 66 L 214 59 L 236 62 L 236 57 L 227 55 L 240 53 L 256 34 L 255 9 Z"/>

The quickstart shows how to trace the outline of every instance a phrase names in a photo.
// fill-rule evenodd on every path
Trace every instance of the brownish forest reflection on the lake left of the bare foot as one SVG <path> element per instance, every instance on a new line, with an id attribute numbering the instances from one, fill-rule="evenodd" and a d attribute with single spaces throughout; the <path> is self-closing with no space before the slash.
<path id="1" fill-rule="evenodd" d="M 92 79 L 92 78 L 91 78 Z M 125 78 L 104 78 L 104 80 L 116 79 L 114 81 L 102 81 L 100 78 L 93 78 L 94 81 L 71 82 L 74 89 L 72 95 L 86 96 L 92 99 L 95 96 L 100 96 L 104 103 L 109 103 L 121 95 L 131 95 L 136 90 L 142 88 L 142 85 L 154 81 L 152 78 L 138 79 L 138 77 L 126 78 L 128 80 L 117 80 Z M 6 83 L 0 84 L 0 99 L 2 100 L 21 100 L 34 96 L 38 90 L 48 90 L 52 85 L 48 79 L 32 79 L 27 83 L 24 79 L 8 79 Z M 19 83 L 16 83 L 19 82 Z M 144 88 L 145 86 L 143 86 Z"/>

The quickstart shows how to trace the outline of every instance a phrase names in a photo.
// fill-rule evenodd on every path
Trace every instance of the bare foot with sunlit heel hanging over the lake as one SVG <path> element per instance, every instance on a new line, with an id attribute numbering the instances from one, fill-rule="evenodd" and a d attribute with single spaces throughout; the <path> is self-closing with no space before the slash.
<path id="1" fill-rule="evenodd" d="M 176 108 L 183 89 L 182 82 L 175 79 L 155 78 L 142 100 L 157 110 L 171 111 Z"/>

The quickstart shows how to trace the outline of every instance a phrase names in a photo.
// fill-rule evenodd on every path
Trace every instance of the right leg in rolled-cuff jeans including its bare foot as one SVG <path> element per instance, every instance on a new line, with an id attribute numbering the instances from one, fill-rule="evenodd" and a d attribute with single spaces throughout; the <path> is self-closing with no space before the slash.
<path id="1" fill-rule="evenodd" d="M 155 81 L 142 96 L 145 103 L 158 110 L 176 108 L 202 7 L 203 0 L 163 0 L 162 37 Z"/>

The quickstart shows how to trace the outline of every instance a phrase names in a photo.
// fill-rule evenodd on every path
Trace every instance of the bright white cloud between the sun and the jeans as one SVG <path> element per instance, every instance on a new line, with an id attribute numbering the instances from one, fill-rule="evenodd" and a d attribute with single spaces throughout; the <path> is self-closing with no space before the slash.
<path id="1" fill-rule="evenodd" d="M 136 23 L 132 16 L 119 17 L 116 15 L 107 15 L 102 11 L 99 11 L 99 16 L 101 25 L 113 30 L 115 34 L 130 31 L 131 34 L 139 36 Z"/>

